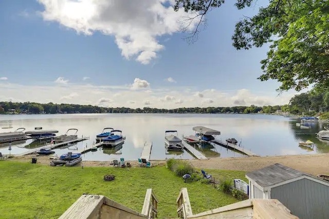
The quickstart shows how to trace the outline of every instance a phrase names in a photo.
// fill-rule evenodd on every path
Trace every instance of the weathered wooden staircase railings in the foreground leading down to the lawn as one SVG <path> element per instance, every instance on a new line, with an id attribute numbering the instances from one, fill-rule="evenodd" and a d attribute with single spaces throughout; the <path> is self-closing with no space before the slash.
<path id="1" fill-rule="evenodd" d="M 178 218 L 298 218 L 290 213 L 277 199 L 248 199 L 231 205 L 193 214 L 187 188 L 181 188 L 177 197 Z M 155 218 L 158 199 L 152 189 L 147 189 L 141 212 L 123 206 L 103 195 L 83 194 L 59 218 L 105 219 L 105 218 Z"/>

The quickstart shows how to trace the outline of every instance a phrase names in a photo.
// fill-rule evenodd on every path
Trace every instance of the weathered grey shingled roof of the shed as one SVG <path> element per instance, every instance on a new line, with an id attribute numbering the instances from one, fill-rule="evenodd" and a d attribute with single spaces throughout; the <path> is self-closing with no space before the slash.
<path id="1" fill-rule="evenodd" d="M 274 165 L 262 168 L 260 170 L 255 170 L 246 173 L 246 176 L 251 180 L 255 181 L 261 187 L 267 187 L 279 184 L 290 179 L 294 179 L 300 176 L 310 176 L 306 173 L 299 172 L 292 168 L 286 167 L 280 163 L 275 163 Z M 314 178 L 314 177 L 313 177 Z"/>

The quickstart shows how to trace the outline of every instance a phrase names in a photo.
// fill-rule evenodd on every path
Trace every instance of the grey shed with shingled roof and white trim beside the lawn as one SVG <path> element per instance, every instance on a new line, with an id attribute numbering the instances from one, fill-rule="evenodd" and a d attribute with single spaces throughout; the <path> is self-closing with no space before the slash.
<path id="1" fill-rule="evenodd" d="M 329 182 L 280 163 L 246 174 L 249 198 L 278 199 L 299 218 L 328 218 Z"/>

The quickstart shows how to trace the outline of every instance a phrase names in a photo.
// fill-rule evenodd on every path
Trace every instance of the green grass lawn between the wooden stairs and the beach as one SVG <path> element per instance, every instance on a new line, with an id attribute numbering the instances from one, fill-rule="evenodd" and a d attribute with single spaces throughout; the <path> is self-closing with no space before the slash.
<path id="1" fill-rule="evenodd" d="M 216 178 L 245 179 L 241 171 L 209 171 Z M 104 181 L 114 174 L 114 181 Z M 1 218 L 58 218 L 83 193 L 104 195 L 141 212 L 145 192 L 152 188 L 159 200 L 158 217 L 176 217 L 176 198 L 187 187 L 193 213 L 238 202 L 212 185 L 187 182 L 166 167 L 50 167 L 0 161 Z"/>

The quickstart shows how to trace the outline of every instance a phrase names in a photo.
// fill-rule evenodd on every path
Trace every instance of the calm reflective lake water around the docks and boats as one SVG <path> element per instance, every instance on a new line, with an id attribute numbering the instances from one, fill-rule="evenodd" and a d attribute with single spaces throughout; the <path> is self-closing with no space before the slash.
<path id="1" fill-rule="evenodd" d="M 329 142 L 316 138 L 325 123 L 309 123 L 312 129 L 300 129 L 298 120 L 283 116 L 249 114 L 57 114 L 57 115 L 1 115 L 0 127 L 12 126 L 12 129 L 0 129 L 9 132 L 25 127 L 26 131 L 42 126 L 43 130 L 58 130 L 57 135 L 65 134 L 70 128 L 78 129 L 78 136 L 89 136 L 89 140 L 78 142 L 69 147 L 54 149 L 57 155 L 75 149 L 93 147 L 96 135 L 104 127 L 122 130 L 126 140 L 122 147 L 115 150 L 98 149 L 83 154 L 83 160 L 108 161 L 124 157 L 125 160 L 137 160 L 144 142 L 153 142 L 151 159 L 181 158 L 194 159 L 187 151 L 168 154 L 165 148 L 165 131 L 177 130 L 178 136 L 194 135 L 193 126 L 203 125 L 221 132 L 216 138 L 225 141 L 236 138 L 242 147 L 260 156 L 329 153 Z M 312 140 L 314 149 L 299 147 L 298 142 Z M 13 142 L 11 154 L 30 150 L 31 140 Z M 31 147 L 30 147 L 31 148 Z M 9 154 L 8 144 L 0 144 L 0 152 Z M 206 144 L 203 152 L 208 157 L 241 157 L 240 153 L 227 150 L 216 144 Z"/>

